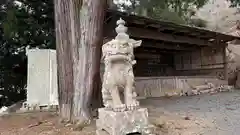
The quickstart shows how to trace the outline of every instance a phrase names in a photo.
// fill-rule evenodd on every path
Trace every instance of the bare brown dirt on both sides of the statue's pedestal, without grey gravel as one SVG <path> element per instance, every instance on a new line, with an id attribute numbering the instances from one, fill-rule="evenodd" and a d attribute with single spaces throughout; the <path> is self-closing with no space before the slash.
<path id="1" fill-rule="evenodd" d="M 159 135 L 194 135 L 200 133 L 206 122 L 180 117 L 160 108 L 149 108 L 150 121 Z M 201 127 L 201 128 L 199 128 Z M 72 125 L 59 124 L 54 113 L 24 113 L 0 119 L 0 135 L 95 135 L 95 124 L 81 131 Z"/>

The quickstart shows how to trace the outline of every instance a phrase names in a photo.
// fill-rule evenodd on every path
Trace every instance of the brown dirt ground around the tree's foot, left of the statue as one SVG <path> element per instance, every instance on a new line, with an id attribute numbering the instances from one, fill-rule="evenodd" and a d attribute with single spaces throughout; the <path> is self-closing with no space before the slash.
<path id="1" fill-rule="evenodd" d="M 56 113 L 38 112 L 0 117 L 0 135 L 94 135 L 94 126 L 74 131 L 62 125 Z"/>

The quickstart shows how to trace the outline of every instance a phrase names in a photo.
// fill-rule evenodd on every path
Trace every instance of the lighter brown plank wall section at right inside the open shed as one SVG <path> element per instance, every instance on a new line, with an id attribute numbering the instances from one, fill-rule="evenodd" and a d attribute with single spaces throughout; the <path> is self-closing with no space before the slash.
<path id="1" fill-rule="evenodd" d="M 174 56 L 177 75 L 224 75 L 224 47 L 178 53 Z"/>

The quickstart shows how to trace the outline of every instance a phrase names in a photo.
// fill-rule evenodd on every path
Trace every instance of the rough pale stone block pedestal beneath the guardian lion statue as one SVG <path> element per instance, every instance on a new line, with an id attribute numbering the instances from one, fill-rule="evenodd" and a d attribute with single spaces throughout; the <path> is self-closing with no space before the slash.
<path id="1" fill-rule="evenodd" d="M 148 122 L 147 108 L 134 111 L 114 112 L 104 108 L 98 109 L 99 119 L 96 121 L 97 135 L 153 135 L 153 128 Z"/>

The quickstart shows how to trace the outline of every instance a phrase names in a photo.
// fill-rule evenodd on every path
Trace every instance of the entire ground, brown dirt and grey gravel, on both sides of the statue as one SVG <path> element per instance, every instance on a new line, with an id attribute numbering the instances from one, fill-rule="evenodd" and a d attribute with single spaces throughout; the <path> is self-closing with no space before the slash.
<path id="1" fill-rule="evenodd" d="M 240 91 L 191 97 L 141 100 L 160 135 L 237 135 L 240 132 Z M 54 112 L 0 117 L 0 135 L 94 135 L 92 125 L 77 131 L 63 125 Z"/>

